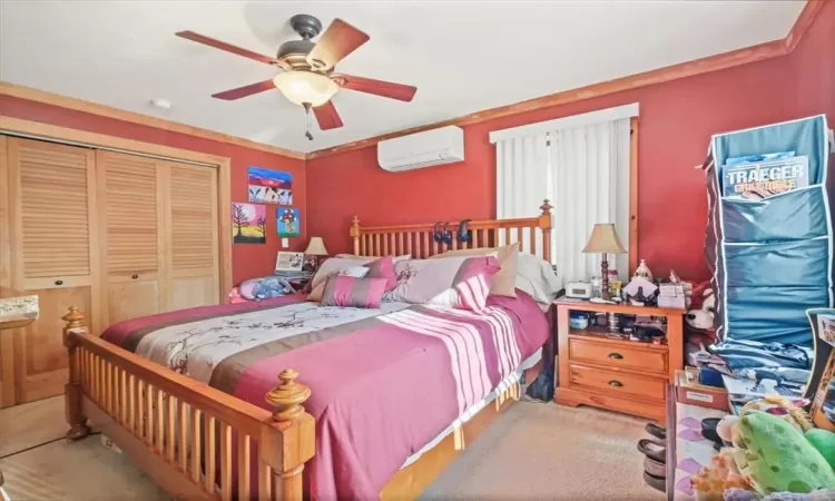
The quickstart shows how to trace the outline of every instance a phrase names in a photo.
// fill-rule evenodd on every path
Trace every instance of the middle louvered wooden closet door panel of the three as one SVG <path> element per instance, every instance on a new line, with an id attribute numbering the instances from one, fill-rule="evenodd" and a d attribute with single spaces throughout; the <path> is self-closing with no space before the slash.
<path id="1" fill-rule="evenodd" d="M 161 160 L 96 153 L 107 323 L 165 311 Z"/>

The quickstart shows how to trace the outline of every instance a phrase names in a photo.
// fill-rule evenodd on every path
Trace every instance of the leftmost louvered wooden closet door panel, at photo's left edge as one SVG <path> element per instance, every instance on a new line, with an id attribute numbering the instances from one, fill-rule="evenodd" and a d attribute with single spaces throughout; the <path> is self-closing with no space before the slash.
<path id="1" fill-rule="evenodd" d="M 57 395 L 67 382 L 61 316 L 69 306 L 94 312 L 91 327 L 100 328 L 95 154 L 19 138 L 7 138 L 7 150 L 0 183 L 8 187 L 8 213 L 0 224 L 8 224 L 10 266 L 0 286 L 40 302 L 40 318 L 12 337 L 13 400 L 22 403 Z"/>

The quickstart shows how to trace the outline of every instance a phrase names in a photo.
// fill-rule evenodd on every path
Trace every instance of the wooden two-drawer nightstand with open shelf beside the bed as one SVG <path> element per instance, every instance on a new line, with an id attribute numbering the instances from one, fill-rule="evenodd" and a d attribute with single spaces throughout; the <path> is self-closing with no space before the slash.
<path id="1" fill-rule="evenodd" d="M 684 310 L 558 299 L 559 385 L 554 401 L 666 421 L 667 383 L 684 366 Z M 667 344 L 623 341 L 569 326 L 572 311 L 667 317 Z"/>

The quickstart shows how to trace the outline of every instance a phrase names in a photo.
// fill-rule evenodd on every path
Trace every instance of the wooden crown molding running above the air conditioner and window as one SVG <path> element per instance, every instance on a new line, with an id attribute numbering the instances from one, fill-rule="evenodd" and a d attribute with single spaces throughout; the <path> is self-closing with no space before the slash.
<path id="1" fill-rule="evenodd" d="M 835 0 L 807 0 L 806 4 L 797 17 L 794 26 L 785 38 L 760 43 L 757 46 L 746 47 L 743 49 L 731 50 L 730 52 L 708 56 L 706 58 L 692 61 L 681 62 L 642 73 L 630 75 L 615 80 L 592 84 L 576 89 L 564 90 L 548 96 L 541 96 L 525 101 L 514 102 L 512 105 L 500 106 L 498 108 L 485 109 L 462 117 L 451 118 L 433 124 L 412 127 L 395 132 L 383 134 L 380 136 L 361 139 L 344 145 L 337 145 L 331 148 L 320 149 L 307 154 L 307 159 L 322 158 L 331 155 L 338 155 L 355 149 L 365 148 L 376 145 L 386 139 L 406 136 L 410 134 L 421 132 L 424 130 L 445 127 L 450 125 L 465 126 L 481 121 L 492 120 L 494 118 L 508 117 L 511 115 L 522 114 L 534 109 L 567 105 L 569 102 L 581 101 L 596 97 L 607 96 L 623 90 L 638 89 L 656 84 L 662 84 L 679 78 L 694 77 L 696 75 L 718 71 L 733 68 L 750 62 L 763 61 L 766 59 L 777 58 L 790 53 L 800 41 L 803 36 L 814 23 L 817 14 L 821 13 L 824 2 Z"/>

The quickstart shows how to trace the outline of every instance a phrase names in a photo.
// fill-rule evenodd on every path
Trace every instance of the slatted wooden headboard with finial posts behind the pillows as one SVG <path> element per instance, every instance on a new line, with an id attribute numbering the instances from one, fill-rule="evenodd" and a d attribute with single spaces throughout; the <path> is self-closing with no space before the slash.
<path id="1" fill-rule="evenodd" d="M 364 227 L 354 216 L 351 238 L 357 256 L 396 256 L 411 254 L 414 258 L 426 258 L 450 249 L 499 247 L 519 242 L 519 250 L 536 254 L 551 261 L 551 209 L 548 200 L 539 207 L 537 217 L 518 219 L 472 220 L 468 229 L 472 242 L 459 242 L 455 237 L 459 222 L 450 222 L 452 244 L 439 244 L 433 238 L 434 223 L 422 225 Z"/>

